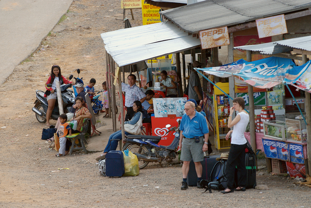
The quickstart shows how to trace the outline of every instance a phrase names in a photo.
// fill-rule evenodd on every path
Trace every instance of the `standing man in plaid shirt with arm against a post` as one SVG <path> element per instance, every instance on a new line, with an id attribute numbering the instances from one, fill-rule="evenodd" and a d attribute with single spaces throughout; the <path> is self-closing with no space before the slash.
<path id="1" fill-rule="evenodd" d="M 114 77 L 114 74 L 111 73 Z M 119 80 L 117 79 L 119 82 Z M 122 82 L 122 91 L 125 92 L 125 106 L 127 107 L 127 113 L 124 121 L 132 119 L 135 112 L 133 111 L 133 103 L 135 100 L 139 100 L 141 103 L 146 100 L 145 93 L 136 85 L 136 76 L 133 74 L 128 75 L 128 84 Z"/>

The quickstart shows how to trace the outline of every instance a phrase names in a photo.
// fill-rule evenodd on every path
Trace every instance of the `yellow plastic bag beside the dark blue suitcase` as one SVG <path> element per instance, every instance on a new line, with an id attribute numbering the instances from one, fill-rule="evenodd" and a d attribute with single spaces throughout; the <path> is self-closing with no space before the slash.
<path id="1" fill-rule="evenodd" d="M 127 150 L 125 150 L 127 151 Z M 123 176 L 137 176 L 139 175 L 139 165 L 137 156 L 131 151 L 128 151 L 128 156 L 123 152 L 124 159 L 124 174 Z"/>

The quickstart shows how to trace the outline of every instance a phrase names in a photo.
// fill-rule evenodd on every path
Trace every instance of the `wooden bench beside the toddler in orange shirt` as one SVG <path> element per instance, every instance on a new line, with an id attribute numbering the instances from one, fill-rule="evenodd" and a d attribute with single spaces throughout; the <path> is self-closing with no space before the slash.
<path id="1" fill-rule="evenodd" d="M 83 150 L 87 154 L 87 150 L 84 144 L 87 144 L 87 141 L 85 139 L 85 134 L 88 131 L 90 119 L 85 118 L 83 120 L 83 126 L 81 128 L 80 133 L 73 133 L 72 135 L 67 135 L 66 138 L 70 139 L 72 142 L 69 155 L 72 154 L 73 150 Z M 76 143 L 77 141 L 77 143 Z"/>

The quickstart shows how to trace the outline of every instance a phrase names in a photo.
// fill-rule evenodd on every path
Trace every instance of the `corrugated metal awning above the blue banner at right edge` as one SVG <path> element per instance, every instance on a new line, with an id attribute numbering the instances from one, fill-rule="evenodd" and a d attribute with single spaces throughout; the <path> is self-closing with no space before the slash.
<path id="1" fill-rule="evenodd" d="M 257 45 L 237 46 L 234 49 L 242 49 L 249 51 L 259 51 L 262 54 L 276 54 L 292 51 L 293 49 L 302 49 L 311 51 L 311 36 L 292 38 L 287 40 L 279 40 L 270 43 Z"/>

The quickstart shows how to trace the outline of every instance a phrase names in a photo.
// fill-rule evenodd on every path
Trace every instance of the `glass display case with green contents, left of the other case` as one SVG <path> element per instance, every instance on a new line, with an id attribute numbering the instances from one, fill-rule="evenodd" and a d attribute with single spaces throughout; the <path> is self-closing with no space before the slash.
<path id="1" fill-rule="evenodd" d="M 284 121 L 264 121 L 263 133 L 265 137 L 285 141 L 286 137 L 286 125 Z"/>

